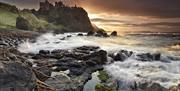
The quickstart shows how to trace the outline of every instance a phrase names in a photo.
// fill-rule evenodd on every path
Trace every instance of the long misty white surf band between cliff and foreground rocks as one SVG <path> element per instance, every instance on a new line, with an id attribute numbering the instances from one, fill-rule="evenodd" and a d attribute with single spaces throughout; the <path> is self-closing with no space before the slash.
<path id="1" fill-rule="evenodd" d="M 59 34 L 53 35 L 51 33 L 44 34 L 36 39 L 35 43 L 29 41 L 24 42 L 19 45 L 18 49 L 24 53 L 38 53 L 39 50 L 53 50 L 53 49 L 70 49 L 73 47 L 93 45 L 100 46 L 101 49 L 106 51 L 118 51 L 120 49 L 132 50 L 137 52 L 152 51 L 149 48 L 138 45 L 138 41 L 132 41 L 131 39 L 126 39 L 122 37 L 109 37 L 109 38 L 99 38 L 99 37 L 78 37 L 75 36 L 77 33 L 71 34 Z M 67 35 L 72 35 L 72 37 L 67 37 Z M 65 38 L 65 40 L 62 40 Z"/>

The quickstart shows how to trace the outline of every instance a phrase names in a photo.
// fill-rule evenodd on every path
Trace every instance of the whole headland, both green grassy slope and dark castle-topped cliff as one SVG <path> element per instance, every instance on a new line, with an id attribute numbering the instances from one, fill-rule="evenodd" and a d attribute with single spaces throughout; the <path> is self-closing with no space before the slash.
<path id="1" fill-rule="evenodd" d="M 87 32 L 94 30 L 87 12 L 81 7 L 69 7 L 62 2 L 54 5 L 40 2 L 36 10 L 18 10 L 0 2 L 0 28 L 36 32 Z"/>

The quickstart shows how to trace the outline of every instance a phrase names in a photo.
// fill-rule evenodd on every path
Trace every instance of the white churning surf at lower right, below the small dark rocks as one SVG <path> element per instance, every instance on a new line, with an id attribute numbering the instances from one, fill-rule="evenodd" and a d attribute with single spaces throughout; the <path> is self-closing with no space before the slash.
<path id="1" fill-rule="evenodd" d="M 180 60 L 165 63 L 141 62 L 129 58 L 124 62 L 106 65 L 105 69 L 115 79 L 124 81 L 124 83 L 152 81 L 167 88 L 180 83 Z"/>

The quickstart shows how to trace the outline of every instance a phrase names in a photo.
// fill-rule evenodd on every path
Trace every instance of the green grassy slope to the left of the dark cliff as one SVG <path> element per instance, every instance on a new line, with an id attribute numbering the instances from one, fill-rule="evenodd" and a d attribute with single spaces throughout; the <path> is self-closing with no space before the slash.
<path id="1" fill-rule="evenodd" d="M 18 16 L 23 17 L 28 20 L 30 24 L 31 31 L 39 31 L 39 30 L 58 30 L 61 31 L 66 29 L 63 25 L 55 25 L 53 23 L 48 23 L 43 18 L 37 18 L 34 14 L 28 12 L 20 12 L 14 13 L 8 10 L 3 10 L 0 8 L 0 28 L 4 29 L 16 29 L 16 18 Z"/>

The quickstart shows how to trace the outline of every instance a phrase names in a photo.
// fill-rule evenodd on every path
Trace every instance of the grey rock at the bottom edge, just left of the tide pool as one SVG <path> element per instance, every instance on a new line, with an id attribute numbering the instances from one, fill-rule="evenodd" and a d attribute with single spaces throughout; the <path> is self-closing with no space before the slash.
<path id="1" fill-rule="evenodd" d="M 45 82 L 56 88 L 57 91 L 83 91 L 83 86 L 87 80 L 87 75 L 76 76 L 71 79 L 67 75 L 56 75 Z"/>

